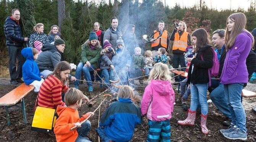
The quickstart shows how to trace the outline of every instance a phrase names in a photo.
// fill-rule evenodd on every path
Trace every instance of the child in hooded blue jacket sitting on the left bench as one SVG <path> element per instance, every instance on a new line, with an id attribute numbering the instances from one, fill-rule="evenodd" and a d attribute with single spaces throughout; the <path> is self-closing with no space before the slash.
<path id="1" fill-rule="evenodd" d="M 33 85 L 34 92 L 38 92 L 41 84 L 44 82 L 43 75 L 39 72 L 39 68 L 35 60 L 38 56 L 36 48 L 24 48 L 21 54 L 26 58 L 26 62 L 22 66 L 22 76 L 26 85 Z"/>

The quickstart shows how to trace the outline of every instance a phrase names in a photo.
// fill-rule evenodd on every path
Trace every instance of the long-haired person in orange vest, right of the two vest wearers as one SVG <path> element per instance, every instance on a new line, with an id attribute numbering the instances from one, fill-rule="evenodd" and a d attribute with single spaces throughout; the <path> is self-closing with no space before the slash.
<path id="1" fill-rule="evenodd" d="M 174 26 L 174 30 L 170 38 L 171 41 L 174 41 L 172 46 L 173 68 L 178 68 L 179 64 L 181 68 L 186 67 L 184 58 L 186 47 L 192 45 L 191 36 L 188 32 L 186 32 L 186 30 L 187 27 L 185 22 L 180 21 L 178 28 Z M 185 71 L 186 69 L 184 68 L 181 70 Z"/>

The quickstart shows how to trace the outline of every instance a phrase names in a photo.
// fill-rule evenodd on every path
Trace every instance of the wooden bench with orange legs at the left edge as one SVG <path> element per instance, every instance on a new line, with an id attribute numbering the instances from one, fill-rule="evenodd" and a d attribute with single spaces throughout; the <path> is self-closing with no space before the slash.
<path id="1" fill-rule="evenodd" d="M 23 83 L 23 84 L 19 85 L 18 87 L 16 87 L 15 89 L 13 89 L 11 92 L 4 95 L 2 98 L 0 98 L 0 106 L 5 106 L 8 126 L 11 125 L 10 117 L 9 117 L 9 110 L 20 110 L 21 109 L 22 114 L 23 114 L 24 124 L 27 124 L 24 97 L 26 95 L 28 95 L 28 93 L 31 92 L 34 88 L 35 87 L 32 85 L 26 85 L 25 83 Z M 21 105 L 18 105 L 19 102 L 21 102 Z M 19 109 L 10 109 L 13 106 L 18 107 Z"/>

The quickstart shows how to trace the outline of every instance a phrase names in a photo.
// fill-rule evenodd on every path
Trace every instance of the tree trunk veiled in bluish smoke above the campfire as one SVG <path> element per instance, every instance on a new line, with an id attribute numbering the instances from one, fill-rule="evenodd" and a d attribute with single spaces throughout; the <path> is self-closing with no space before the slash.
<path id="1" fill-rule="evenodd" d="M 129 24 L 129 0 L 122 0 L 122 9 L 120 14 L 121 15 L 119 17 L 122 17 L 120 28 L 124 31 Z"/>

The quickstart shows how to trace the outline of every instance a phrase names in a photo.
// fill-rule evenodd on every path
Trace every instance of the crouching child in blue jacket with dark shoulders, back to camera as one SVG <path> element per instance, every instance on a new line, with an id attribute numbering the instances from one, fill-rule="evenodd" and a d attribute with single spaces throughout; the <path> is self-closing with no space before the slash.
<path id="1" fill-rule="evenodd" d="M 96 128 L 102 142 L 128 142 L 134 128 L 141 123 L 141 110 L 131 101 L 133 89 L 124 85 L 118 91 L 118 102 L 110 104 Z"/>

